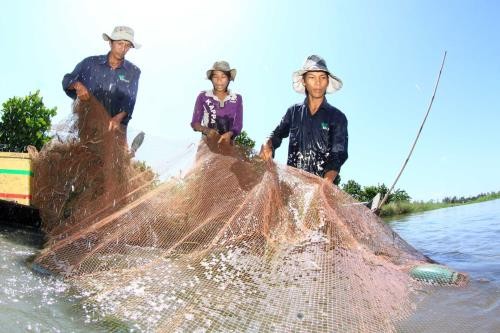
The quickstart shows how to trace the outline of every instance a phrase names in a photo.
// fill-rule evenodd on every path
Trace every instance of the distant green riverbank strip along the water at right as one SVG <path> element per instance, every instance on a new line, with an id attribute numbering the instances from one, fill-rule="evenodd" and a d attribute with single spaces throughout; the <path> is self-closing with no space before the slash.
<path id="1" fill-rule="evenodd" d="M 473 200 L 466 200 L 463 202 L 453 202 L 453 203 L 451 203 L 451 202 L 433 202 L 433 201 L 428 201 L 428 202 L 423 202 L 423 201 L 391 202 L 387 205 L 382 206 L 382 209 L 380 210 L 380 217 L 393 218 L 393 217 L 399 217 L 402 215 L 425 212 L 428 210 L 454 207 L 454 206 L 462 206 L 462 205 L 468 205 L 468 204 L 496 200 L 496 199 L 500 199 L 500 192 L 481 196 L 481 197 L 473 199 Z"/>

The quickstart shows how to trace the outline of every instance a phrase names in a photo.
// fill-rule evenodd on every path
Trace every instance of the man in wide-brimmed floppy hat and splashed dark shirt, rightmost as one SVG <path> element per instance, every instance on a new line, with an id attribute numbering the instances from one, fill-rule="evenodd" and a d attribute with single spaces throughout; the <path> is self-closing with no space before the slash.
<path id="1" fill-rule="evenodd" d="M 288 108 L 262 145 L 260 156 L 271 159 L 283 138 L 290 136 L 287 164 L 333 182 L 347 160 L 347 118 L 328 104 L 325 94 L 342 88 L 342 81 L 316 55 L 294 72 L 293 81 L 295 91 L 305 93 L 306 98 Z"/>

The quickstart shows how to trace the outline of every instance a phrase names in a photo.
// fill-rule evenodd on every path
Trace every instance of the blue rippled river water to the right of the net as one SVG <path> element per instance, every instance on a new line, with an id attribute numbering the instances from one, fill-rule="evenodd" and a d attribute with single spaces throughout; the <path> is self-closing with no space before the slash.
<path id="1" fill-rule="evenodd" d="M 465 289 L 436 287 L 425 295 L 403 331 L 500 332 L 500 200 L 390 224 L 418 250 L 471 278 Z"/>

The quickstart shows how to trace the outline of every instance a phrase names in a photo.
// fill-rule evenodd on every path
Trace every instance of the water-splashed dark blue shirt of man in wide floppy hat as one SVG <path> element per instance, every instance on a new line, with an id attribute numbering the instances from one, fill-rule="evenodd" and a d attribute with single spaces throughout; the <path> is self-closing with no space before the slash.
<path id="1" fill-rule="evenodd" d="M 271 133 L 273 149 L 290 136 L 287 164 L 320 177 L 327 171 L 340 171 L 347 160 L 347 118 L 326 98 L 311 115 L 307 98 L 288 108 L 280 124 Z"/>

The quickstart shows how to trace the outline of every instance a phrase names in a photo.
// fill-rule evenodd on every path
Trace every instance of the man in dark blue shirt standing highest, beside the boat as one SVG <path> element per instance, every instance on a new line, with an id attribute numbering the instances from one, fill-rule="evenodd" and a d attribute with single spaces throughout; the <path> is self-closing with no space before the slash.
<path id="1" fill-rule="evenodd" d="M 140 69 L 125 55 L 130 48 L 139 48 L 134 41 L 134 30 L 125 26 L 115 27 L 111 36 L 102 34 L 109 41 L 108 54 L 92 56 L 76 65 L 73 72 L 64 76 L 62 86 L 66 94 L 86 101 L 90 94 L 104 106 L 111 119 L 109 129 L 126 131 L 132 118 Z"/>

